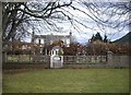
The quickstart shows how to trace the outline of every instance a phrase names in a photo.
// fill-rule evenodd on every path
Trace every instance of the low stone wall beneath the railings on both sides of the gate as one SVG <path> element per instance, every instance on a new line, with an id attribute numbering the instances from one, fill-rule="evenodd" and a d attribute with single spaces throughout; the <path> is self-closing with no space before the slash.
<path id="1" fill-rule="evenodd" d="M 4 62 L 2 64 L 2 69 L 49 69 L 50 62 L 49 57 L 43 57 L 45 61 L 35 60 L 35 62 Z M 83 62 L 83 60 L 76 61 L 75 57 L 73 59 L 69 59 L 63 62 L 62 68 L 129 68 L 129 56 L 124 55 L 108 55 L 107 61 L 87 61 Z"/>

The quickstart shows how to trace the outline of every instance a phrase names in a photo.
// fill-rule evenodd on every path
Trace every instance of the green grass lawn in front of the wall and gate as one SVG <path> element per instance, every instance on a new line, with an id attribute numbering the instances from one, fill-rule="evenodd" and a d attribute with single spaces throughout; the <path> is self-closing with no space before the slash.
<path id="1" fill-rule="evenodd" d="M 3 93 L 128 93 L 129 69 L 45 69 L 3 73 Z"/>

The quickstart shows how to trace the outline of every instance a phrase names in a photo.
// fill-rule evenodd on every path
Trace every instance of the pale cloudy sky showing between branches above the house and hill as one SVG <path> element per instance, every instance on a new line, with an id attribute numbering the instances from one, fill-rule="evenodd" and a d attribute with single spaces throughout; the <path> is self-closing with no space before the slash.
<path id="1" fill-rule="evenodd" d="M 121 0 L 117 0 L 117 1 L 121 1 Z M 84 7 L 82 4 L 80 5 L 80 3 L 76 3 L 76 2 L 73 2 L 73 5 L 85 11 L 87 14 L 90 14 L 92 16 L 92 14 L 86 9 L 86 7 Z M 103 9 L 105 9 L 105 7 L 102 7 L 102 10 Z M 105 26 L 99 26 L 100 27 L 99 28 L 98 25 L 92 19 L 90 19 L 86 14 L 84 14 L 80 11 L 74 11 L 73 9 L 66 8 L 64 10 L 70 11 L 73 14 L 73 17 L 75 20 L 85 24 L 86 26 L 88 26 L 88 28 L 85 28 L 83 25 L 75 23 L 76 26 L 79 26 L 80 32 L 78 32 L 76 29 L 74 29 L 74 27 L 69 22 L 60 21 L 60 22 L 56 22 L 56 23 L 62 29 L 60 29 L 60 32 L 55 32 L 55 31 L 50 31 L 50 29 L 46 28 L 46 26 L 44 25 L 44 23 L 41 21 L 38 26 L 36 25 L 36 27 L 39 28 L 39 32 L 35 32 L 35 33 L 40 34 L 40 35 L 47 35 L 47 34 L 51 34 L 51 33 L 53 35 L 56 35 L 56 34 L 57 35 L 68 35 L 70 32 L 72 32 L 72 35 L 75 36 L 75 38 L 79 43 L 87 43 L 87 40 L 92 37 L 92 35 L 96 34 L 97 32 L 99 32 L 103 37 L 106 34 L 110 40 L 118 39 L 118 38 L 122 37 L 123 35 L 126 35 L 127 33 L 129 33 L 128 27 L 123 28 L 121 32 L 118 32 L 117 28 L 110 28 L 110 27 L 105 27 Z M 111 12 L 111 10 L 110 10 L 110 12 Z M 105 20 L 108 19 L 108 15 L 100 14 L 99 16 Z M 117 17 L 119 17 L 119 16 L 114 16 L 110 19 L 110 21 L 114 22 Z M 127 17 L 128 17 L 128 15 L 124 15 L 124 16 L 121 16 L 120 20 L 126 20 Z M 29 28 L 29 31 L 32 32 L 32 28 Z"/>

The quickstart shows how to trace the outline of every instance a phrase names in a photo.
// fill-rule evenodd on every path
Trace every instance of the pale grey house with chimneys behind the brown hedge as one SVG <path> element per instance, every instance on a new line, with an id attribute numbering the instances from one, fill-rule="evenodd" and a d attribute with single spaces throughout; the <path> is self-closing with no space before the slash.
<path id="1" fill-rule="evenodd" d="M 53 41 L 62 40 L 63 45 L 69 47 L 70 44 L 73 41 L 72 33 L 70 32 L 69 35 L 35 35 L 33 32 L 32 35 L 32 43 L 39 44 L 43 46 L 51 45 Z"/>

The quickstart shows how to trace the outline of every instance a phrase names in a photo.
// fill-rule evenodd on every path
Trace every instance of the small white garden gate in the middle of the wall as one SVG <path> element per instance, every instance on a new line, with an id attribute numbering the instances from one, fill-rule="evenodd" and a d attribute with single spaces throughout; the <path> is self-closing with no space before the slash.
<path id="1" fill-rule="evenodd" d="M 63 67 L 63 56 L 50 56 L 50 68 L 62 68 Z"/>

